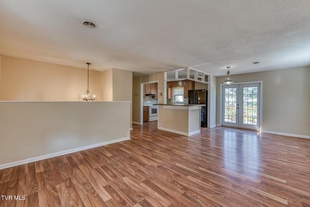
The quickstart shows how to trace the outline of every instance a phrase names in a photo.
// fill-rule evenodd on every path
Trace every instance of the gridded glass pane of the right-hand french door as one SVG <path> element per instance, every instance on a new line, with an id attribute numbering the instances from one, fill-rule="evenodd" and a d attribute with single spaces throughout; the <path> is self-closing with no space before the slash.
<path id="1" fill-rule="evenodd" d="M 243 124 L 257 126 L 257 86 L 243 87 Z"/>

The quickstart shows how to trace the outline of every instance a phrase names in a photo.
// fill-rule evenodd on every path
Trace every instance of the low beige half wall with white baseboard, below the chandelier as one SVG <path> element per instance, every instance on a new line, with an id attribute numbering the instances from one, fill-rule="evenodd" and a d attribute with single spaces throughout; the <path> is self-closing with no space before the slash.
<path id="1" fill-rule="evenodd" d="M 129 111 L 130 102 L 0 102 L 0 169 L 128 140 Z"/>

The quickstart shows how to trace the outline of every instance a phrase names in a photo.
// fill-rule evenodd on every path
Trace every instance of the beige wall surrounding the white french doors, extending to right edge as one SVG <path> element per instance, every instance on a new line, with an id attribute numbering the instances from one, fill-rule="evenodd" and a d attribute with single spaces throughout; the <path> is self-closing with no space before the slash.
<path id="1" fill-rule="evenodd" d="M 310 136 L 310 66 L 230 78 L 235 83 L 263 81 L 263 131 Z M 217 92 L 225 79 L 226 76 L 217 78 Z M 219 96 L 217 93 L 217 106 Z M 217 124 L 219 110 L 217 107 Z"/>

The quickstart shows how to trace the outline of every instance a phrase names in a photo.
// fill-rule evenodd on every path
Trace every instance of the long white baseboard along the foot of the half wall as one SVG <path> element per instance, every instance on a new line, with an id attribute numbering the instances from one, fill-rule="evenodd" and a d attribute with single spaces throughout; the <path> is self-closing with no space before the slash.
<path id="1" fill-rule="evenodd" d="M 117 140 L 111 140 L 108 142 L 104 142 L 104 143 L 97 143 L 97 144 L 92 144 L 92 145 L 88 145 L 88 146 L 83 146 L 83 147 L 79 147 L 79 148 L 75 148 L 75 149 L 68 149 L 68 150 L 64 150 L 61 152 L 55 152 L 55 153 L 51 153 L 51 154 L 47 154 L 47 155 L 42 155 L 39 157 L 35 157 L 35 158 L 29 158 L 29 159 L 23 159 L 23 160 L 19 160 L 19 161 L 15 161 L 15 162 L 10 162 L 7 164 L 2 164 L 0 165 L 0 170 L 5 169 L 5 168 L 9 168 L 9 167 L 15 167 L 18 165 L 23 165 L 23 164 L 27 164 L 30 162 L 35 162 L 35 161 L 39 161 L 42 159 L 48 159 L 48 158 L 54 158 L 57 156 L 61 156 L 61 155 L 66 155 L 66 154 L 70 154 L 73 152 L 78 152 L 78 151 L 82 151 L 82 150 L 86 150 L 86 149 L 91 149 L 94 147 L 98 147 L 98 146 L 103 146 L 103 145 L 107 145 L 107 144 L 111 144 L 111 143 L 118 143 L 118 142 L 122 142 L 125 140 L 130 140 L 130 137 L 125 137 L 125 138 L 121 138 L 121 139 L 117 139 Z"/>

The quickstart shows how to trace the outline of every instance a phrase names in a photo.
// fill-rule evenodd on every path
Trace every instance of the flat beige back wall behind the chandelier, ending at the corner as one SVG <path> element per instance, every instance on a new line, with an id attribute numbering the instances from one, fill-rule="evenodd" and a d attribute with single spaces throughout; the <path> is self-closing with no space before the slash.
<path id="1" fill-rule="evenodd" d="M 85 69 L 1 55 L 1 101 L 78 101 L 87 91 Z M 101 72 L 90 70 L 89 90 L 102 100 Z"/>

